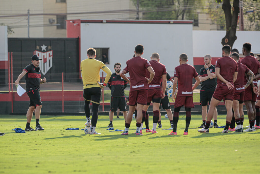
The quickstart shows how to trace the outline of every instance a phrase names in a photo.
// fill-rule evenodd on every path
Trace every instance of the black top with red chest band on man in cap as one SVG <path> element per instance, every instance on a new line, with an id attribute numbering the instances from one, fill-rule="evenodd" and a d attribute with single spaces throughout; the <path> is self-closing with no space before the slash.
<path id="1" fill-rule="evenodd" d="M 39 69 L 39 71 L 37 71 L 37 69 Z M 40 91 L 40 68 L 36 68 L 33 64 L 30 64 L 27 65 L 23 70 L 27 72 L 25 75 L 26 92 L 30 92 L 33 90 Z"/>

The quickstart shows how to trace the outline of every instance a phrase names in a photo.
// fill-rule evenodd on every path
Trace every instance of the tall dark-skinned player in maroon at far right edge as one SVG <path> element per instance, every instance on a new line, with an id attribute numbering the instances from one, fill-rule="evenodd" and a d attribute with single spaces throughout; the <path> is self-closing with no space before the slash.
<path id="1" fill-rule="evenodd" d="M 250 43 L 244 43 L 242 48 L 242 53 L 245 56 L 241 63 L 246 65 L 255 75 L 253 83 L 251 83 L 251 86 L 247 87 L 245 89 L 245 106 L 247 109 L 247 115 L 249 119 L 249 128 L 246 129 L 244 132 L 252 132 L 256 131 L 255 129 L 255 117 L 256 117 L 256 108 L 255 108 L 255 102 L 256 97 L 258 94 L 257 91 L 257 79 L 260 77 L 260 64 L 257 61 L 257 59 L 250 55 L 251 51 L 251 44 Z M 246 84 L 246 80 L 244 81 L 244 84 Z M 244 121 L 244 120 L 243 120 Z"/>

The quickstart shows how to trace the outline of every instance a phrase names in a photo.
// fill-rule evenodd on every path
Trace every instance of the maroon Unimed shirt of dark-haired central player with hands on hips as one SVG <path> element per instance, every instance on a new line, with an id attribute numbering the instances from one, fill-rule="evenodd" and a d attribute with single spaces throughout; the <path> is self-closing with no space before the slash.
<path id="1" fill-rule="evenodd" d="M 150 67 L 150 63 L 142 57 L 133 57 L 126 61 L 124 70 L 130 76 L 130 91 L 140 89 L 148 89 L 146 77 L 146 69 Z"/>

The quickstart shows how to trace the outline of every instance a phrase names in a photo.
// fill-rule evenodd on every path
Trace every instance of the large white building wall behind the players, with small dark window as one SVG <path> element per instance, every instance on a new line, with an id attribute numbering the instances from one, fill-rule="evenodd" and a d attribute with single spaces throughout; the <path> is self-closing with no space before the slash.
<path id="1" fill-rule="evenodd" d="M 114 64 L 120 62 L 124 68 L 138 44 L 144 46 L 143 58 L 150 60 L 152 53 L 159 53 L 170 75 L 181 53 L 193 65 L 191 24 L 81 23 L 81 61 L 87 58 L 89 47 L 109 48 L 107 67 L 114 72 Z"/>

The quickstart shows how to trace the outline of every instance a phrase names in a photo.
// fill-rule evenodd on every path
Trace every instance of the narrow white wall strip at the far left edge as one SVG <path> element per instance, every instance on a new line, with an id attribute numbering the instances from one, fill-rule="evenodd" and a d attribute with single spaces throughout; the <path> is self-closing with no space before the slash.
<path id="1" fill-rule="evenodd" d="M 7 26 L 0 26 L 0 61 L 8 61 Z"/>

